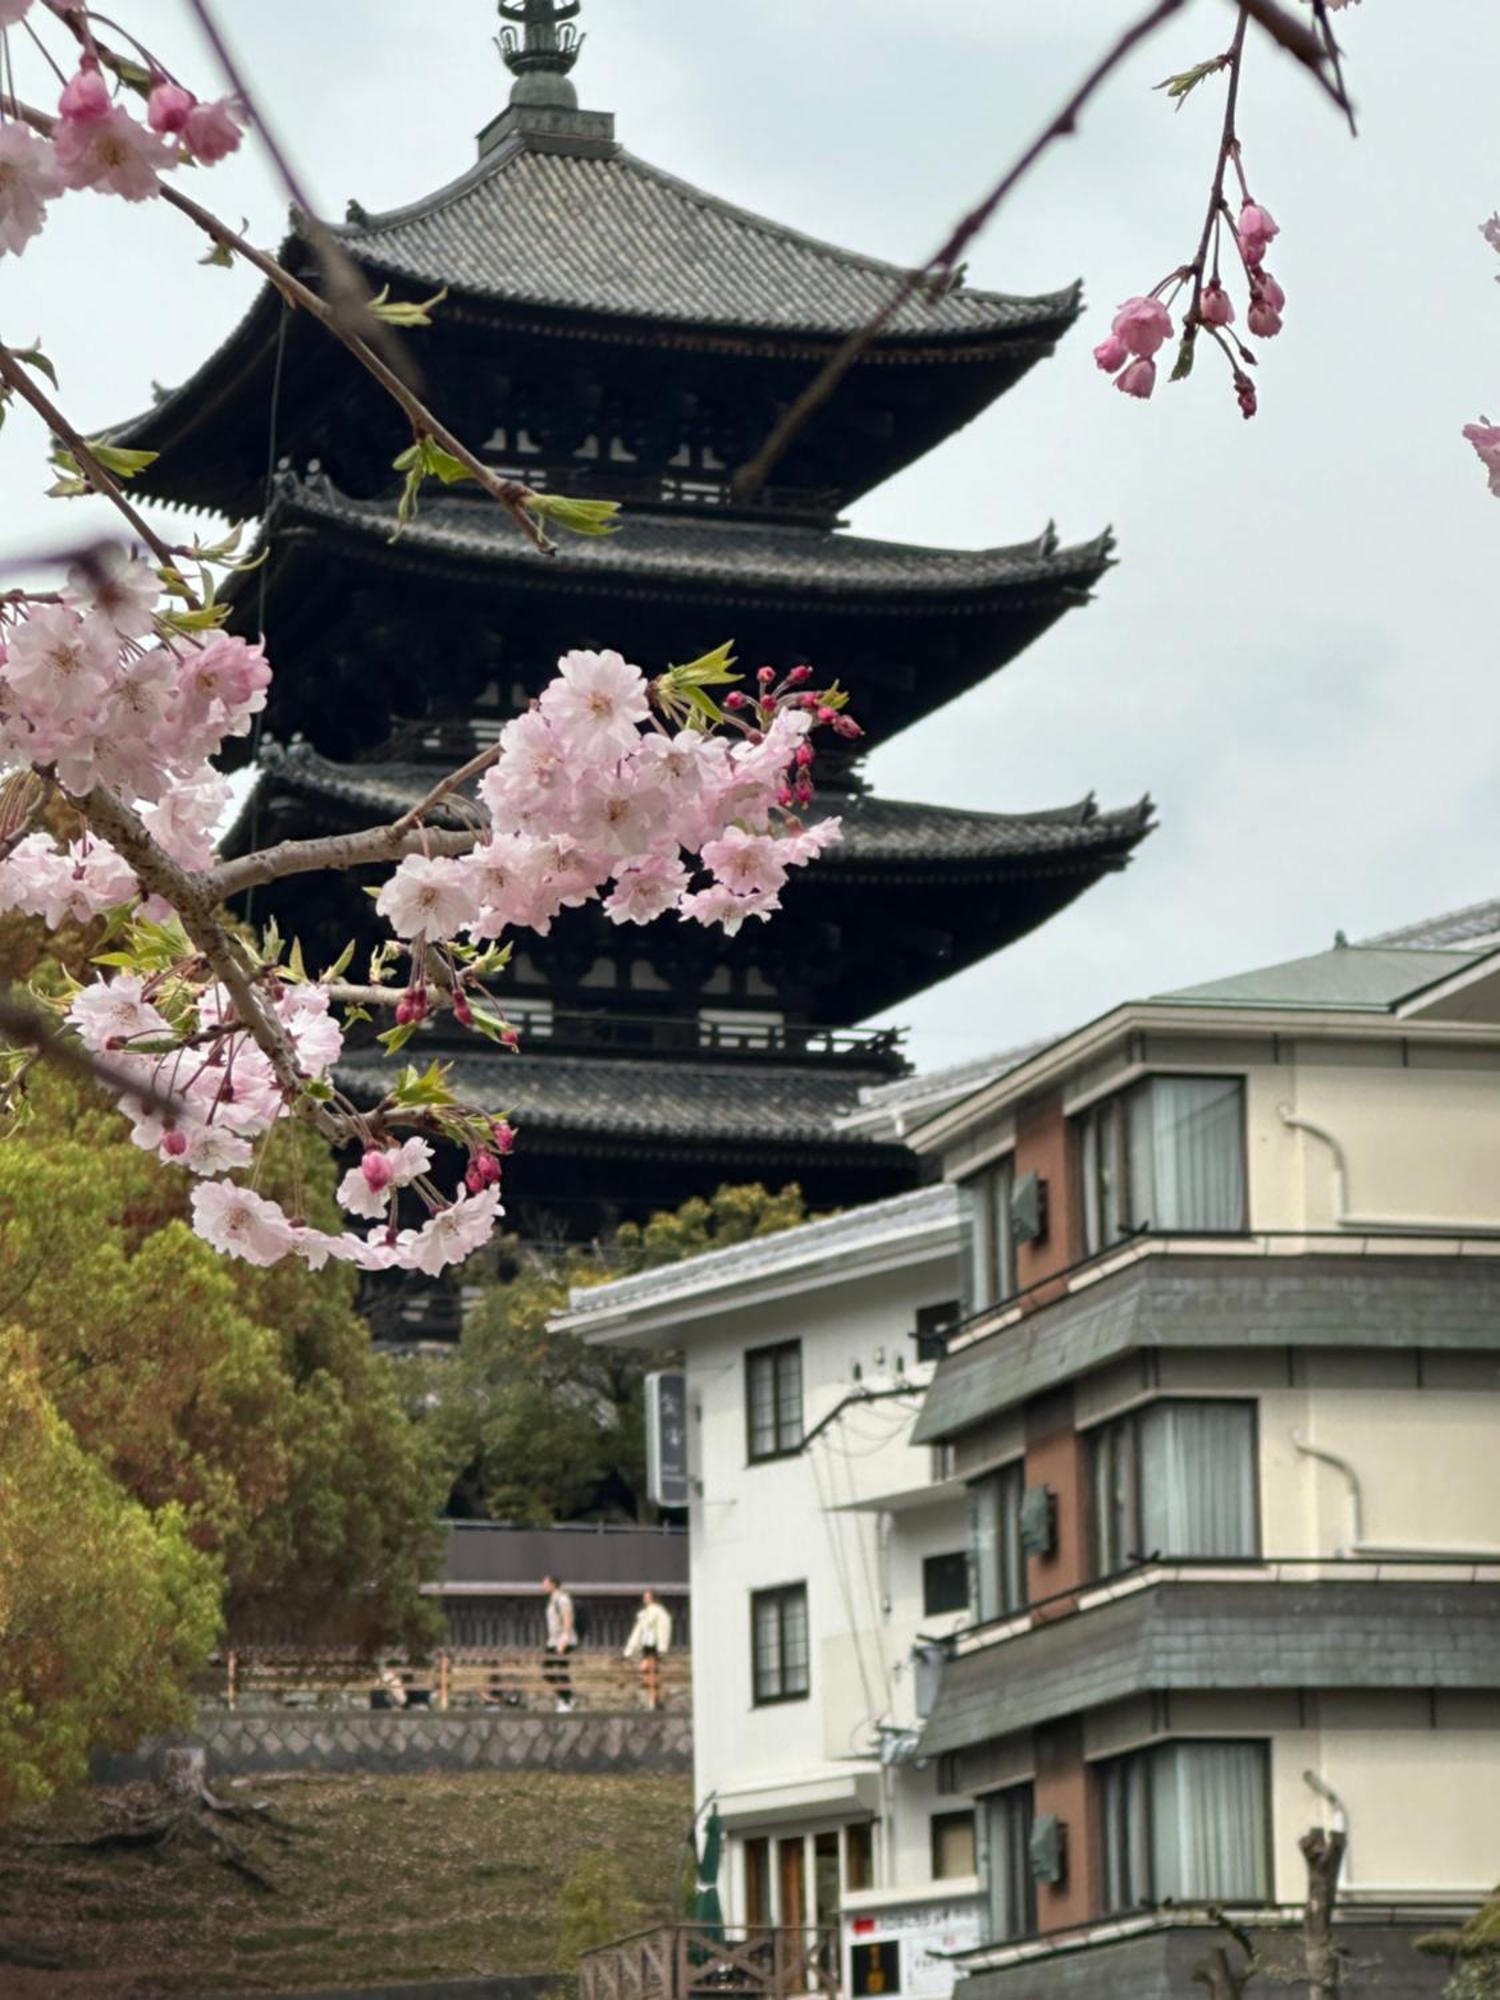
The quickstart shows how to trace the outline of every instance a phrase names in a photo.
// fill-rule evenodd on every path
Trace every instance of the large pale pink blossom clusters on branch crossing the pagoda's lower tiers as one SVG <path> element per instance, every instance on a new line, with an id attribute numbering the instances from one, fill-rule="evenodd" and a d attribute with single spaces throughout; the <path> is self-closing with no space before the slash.
<path id="1" fill-rule="evenodd" d="M 270 666 L 260 646 L 198 630 L 158 596 L 138 558 L 96 556 L 66 590 L 0 604 L 0 780 L 30 770 L 86 822 L 96 798 L 130 804 L 154 854 L 212 886 L 204 872 L 228 802 L 212 758 L 264 708 Z M 648 682 L 618 652 L 566 654 L 504 726 L 462 808 L 480 822 L 468 844 L 452 852 L 452 832 L 434 842 L 418 814 L 392 830 L 400 842 L 386 852 L 408 852 L 376 896 L 398 940 L 378 956 L 410 962 L 406 988 L 390 988 L 392 1052 L 434 1008 L 514 1046 L 482 980 L 502 962 L 500 940 L 546 932 L 564 908 L 598 900 L 616 924 L 676 912 L 734 932 L 780 906 L 788 872 L 840 832 L 836 820 L 798 816 L 812 798 L 814 732 L 856 736 L 858 724 L 836 688 L 810 686 L 806 666 L 780 678 L 762 668 L 754 696 L 736 690 L 720 710 L 704 690 L 728 678 L 722 656 Z M 108 1066 L 136 1144 L 196 1176 L 198 1234 L 254 1264 L 300 1256 L 430 1274 L 486 1242 L 510 1124 L 460 1106 L 440 1072 L 360 1112 L 334 1078 L 336 970 L 312 980 L 298 958 L 280 962 L 280 944 L 246 948 L 250 998 L 236 1000 L 162 894 L 182 878 L 146 858 L 138 866 L 152 880 L 92 830 L 62 842 L 14 826 L 0 838 L 0 914 L 50 928 L 110 914 L 124 928 L 130 948 L 102 954 L 106 970 L 72 994 L 66 1022 Z M 232 1178 L 306 1104 L 332 1106 L 360 1146 L 338 1186 L 350 1218 L 338 1232 Z M 398 1124 L 422 1130 L 396 1140 Z M 450 1190 L 430 1138 L 462 1156 Z M 398 1212 L 404 1190 L 424 1210 L 418 1224 Z"/>

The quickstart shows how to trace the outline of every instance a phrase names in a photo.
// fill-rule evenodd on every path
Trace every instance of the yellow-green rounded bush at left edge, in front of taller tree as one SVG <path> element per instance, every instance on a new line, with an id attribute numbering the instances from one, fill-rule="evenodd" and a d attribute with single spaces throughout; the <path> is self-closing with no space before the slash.
<path id="1" fill-rule="evenodd" d="M 220 1592 L 184 1510 L 132 1500 L 0 1356 L 0 1816 L 186 1720 Z"/>

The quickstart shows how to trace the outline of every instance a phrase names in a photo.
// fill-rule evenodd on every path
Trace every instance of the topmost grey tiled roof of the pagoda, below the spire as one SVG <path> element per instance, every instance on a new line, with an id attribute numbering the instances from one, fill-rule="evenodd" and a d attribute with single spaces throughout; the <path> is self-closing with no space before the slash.
<path id="1" fill-rule="evenodd" d="M 436 194 L 334 234 L 362 264 L 428 290 L 678 326 L 848 334 L 906 276 L 624 150 L 502 146 Z M 1076 312 L 1078 286 L 1040 298 L 958 286 L 908 300 L 882 344 L 1024 334 Z"/>

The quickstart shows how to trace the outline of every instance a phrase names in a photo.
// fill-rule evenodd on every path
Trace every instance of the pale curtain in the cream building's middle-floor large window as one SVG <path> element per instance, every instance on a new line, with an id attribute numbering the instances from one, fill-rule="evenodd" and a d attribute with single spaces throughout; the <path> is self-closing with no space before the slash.
<path id="1" fill-rule="evenodd" d="M 1158 1402 L 1142 1410 L 1142 1552 L 1258 1554 L 1254 1446 L 1248 1402 Z"/>

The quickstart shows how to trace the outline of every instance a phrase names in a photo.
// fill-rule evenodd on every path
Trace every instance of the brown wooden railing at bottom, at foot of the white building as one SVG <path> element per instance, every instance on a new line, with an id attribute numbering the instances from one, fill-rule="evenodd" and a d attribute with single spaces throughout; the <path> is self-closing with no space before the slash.
<path id="1" fill-rule="evenodd" d="M 578 2000 L 792 2000 L 838 1994 L 838 1930 L 664 1924 L 586 1952 Z"/>

